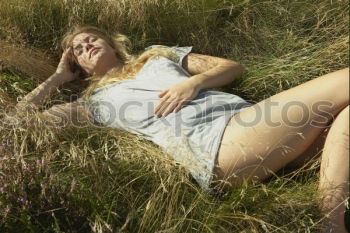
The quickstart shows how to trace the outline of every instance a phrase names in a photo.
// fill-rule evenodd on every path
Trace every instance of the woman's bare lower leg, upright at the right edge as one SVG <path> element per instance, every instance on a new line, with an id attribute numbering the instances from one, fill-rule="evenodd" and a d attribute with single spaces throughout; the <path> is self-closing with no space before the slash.
<path id="1" fill-rule="evenodd" d="M 330 128 L 322 153 L 319 190 L 328 215 L 324 232 L 345 233 L 345 201 L 349 197 L 349 106 Z"/>

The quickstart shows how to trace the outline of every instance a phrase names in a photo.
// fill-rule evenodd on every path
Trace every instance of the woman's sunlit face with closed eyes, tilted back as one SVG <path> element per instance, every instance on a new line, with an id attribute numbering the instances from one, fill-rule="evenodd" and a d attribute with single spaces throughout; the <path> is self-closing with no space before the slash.
<path id="1" fill-rule="evenodd" d="M 90 75 L 104 75 L 119 63 L 114 49 L 94 34 L 76 35 L 72 47 L 80 67 Z"/>

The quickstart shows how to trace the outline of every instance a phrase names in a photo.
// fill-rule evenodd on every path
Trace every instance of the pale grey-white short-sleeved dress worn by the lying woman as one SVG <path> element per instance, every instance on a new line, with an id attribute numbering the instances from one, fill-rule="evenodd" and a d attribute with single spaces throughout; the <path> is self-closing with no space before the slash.
<path id="1" fill-rule="evenodd" d="M 179 112 L 157 118 L 158 94 L 191 77 L 181 66 L 191 49 L 176 48 L 177 63 L 162 56 L 147 61 L 133 79 L 95 89 L 85 104 L 96 124 L 153 141 L 212 192 L 209 185 L 224 129 L 234 114 L 252 104 L 237 95 L 202 90 Z"/>

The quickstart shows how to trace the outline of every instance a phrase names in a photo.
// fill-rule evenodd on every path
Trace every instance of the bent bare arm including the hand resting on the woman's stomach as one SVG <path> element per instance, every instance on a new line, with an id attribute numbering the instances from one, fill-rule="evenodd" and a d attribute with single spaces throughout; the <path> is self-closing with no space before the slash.
<path id="1" fill-rule="evenodd" d="M 202 89 L 227 85 L 245 71 L 245 68 L 237 62 L 196 53 L 188 54 L 182 63 L 192 77 L 163 90 L 158 95 L 161 99 L 154 110 L 154 114 L 158 117 L 179 111 Z"/>

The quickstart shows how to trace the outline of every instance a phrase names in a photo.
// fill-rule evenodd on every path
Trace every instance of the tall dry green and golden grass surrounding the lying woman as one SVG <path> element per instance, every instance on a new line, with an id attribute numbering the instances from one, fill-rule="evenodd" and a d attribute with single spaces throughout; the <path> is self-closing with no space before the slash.
<path id="1" fill-rule="evenodd" d="M 77 24 L 120 31 L 135 53 L 193 45 L 235 60 L 247 72 L 220 90 L 258 102 L 347 67 L 348 13 L 341 0 L 0 1 L 0 109 L 10 112 L 54 72 L 59 41 Z M 64 87 L 51 103 L 73 93 Z M 130 133 L 58 131 L 40 118 L 2 126 L 0 232 L 319 232 L 324 217 L 317 159 L 215 198 Z"/>

